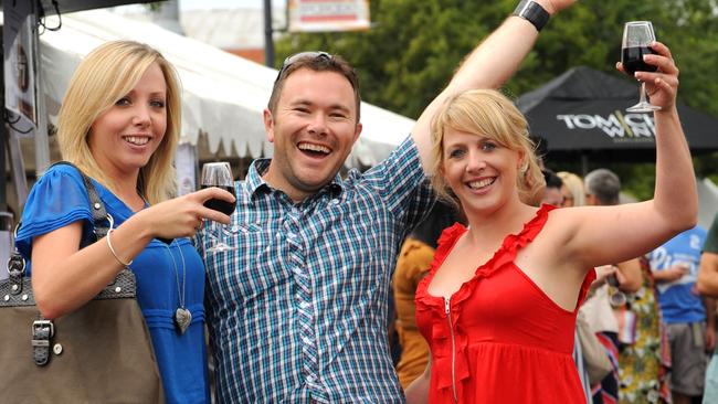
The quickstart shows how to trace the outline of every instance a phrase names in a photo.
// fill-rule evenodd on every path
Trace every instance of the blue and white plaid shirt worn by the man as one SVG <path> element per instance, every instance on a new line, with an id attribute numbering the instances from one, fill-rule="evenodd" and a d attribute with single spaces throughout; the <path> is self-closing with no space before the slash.
<path id="1" fill-rule="evenodd" d="M 197 240 L 219 402 L 403 402 L 388 294 L 400 244 L 434 199 L 414 142 L 302 203 L 262 180 L 267 167 L 236 183 L 232 223 Z M 218 240 L 235 248 L 212 251 Z"/>

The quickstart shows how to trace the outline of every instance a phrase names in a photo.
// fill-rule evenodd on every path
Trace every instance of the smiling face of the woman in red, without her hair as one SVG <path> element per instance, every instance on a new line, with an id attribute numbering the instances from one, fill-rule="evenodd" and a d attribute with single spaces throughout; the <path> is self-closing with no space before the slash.
<path id="1" fill-rule="evenodd" d="M 467 213 L 486 213 L 511 199 L 518 201 L 518 151 L 489 137 L 453 128 L 444 131 L 443 150 L 442 174 Z"/>

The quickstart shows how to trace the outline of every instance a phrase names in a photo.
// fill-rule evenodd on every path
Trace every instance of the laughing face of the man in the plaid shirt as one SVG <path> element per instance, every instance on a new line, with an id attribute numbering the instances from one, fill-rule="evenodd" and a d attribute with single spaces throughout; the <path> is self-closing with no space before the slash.
<path id="1" fill-rule="evenodd" d="M 329 183 L 359 138 L 353 88 L 341 74 L 300 68 L 264 111 L 274 157 L 264 180 L 300 201 Z"/>

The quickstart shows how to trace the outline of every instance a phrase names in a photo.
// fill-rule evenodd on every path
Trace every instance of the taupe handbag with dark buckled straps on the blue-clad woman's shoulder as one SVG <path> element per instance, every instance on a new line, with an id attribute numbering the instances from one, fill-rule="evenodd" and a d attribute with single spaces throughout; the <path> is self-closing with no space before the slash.
<path id="1" fill-rule="evenodd" d="M 95 240 L 87 244 L 92 244 L 107 234 L 113 219 L 89 178 L 80 173 L 91 201 Z M 95 298 L 54 320 L 42 318 L 35 307 L 17 248 L 8 273 L 0 281 L 0 402 L 165 402 L 130 270 L 122 270 Z"/>

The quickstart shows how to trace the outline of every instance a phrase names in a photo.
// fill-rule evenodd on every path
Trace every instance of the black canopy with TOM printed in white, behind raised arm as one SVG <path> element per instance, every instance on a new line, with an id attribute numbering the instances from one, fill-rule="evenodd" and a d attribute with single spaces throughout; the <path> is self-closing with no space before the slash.
<path id="1" fill-rule="evenodd" d="M 653 114 L 625 111 L 637 100 L 638 82 L 580 66 L 521 95 L 517 105 L 531 136 L 546 141 L 549 157 L 653 160 Z M 718 119 L 684 105 L 678 113 L 694 153 L 718 150 Z"/>

